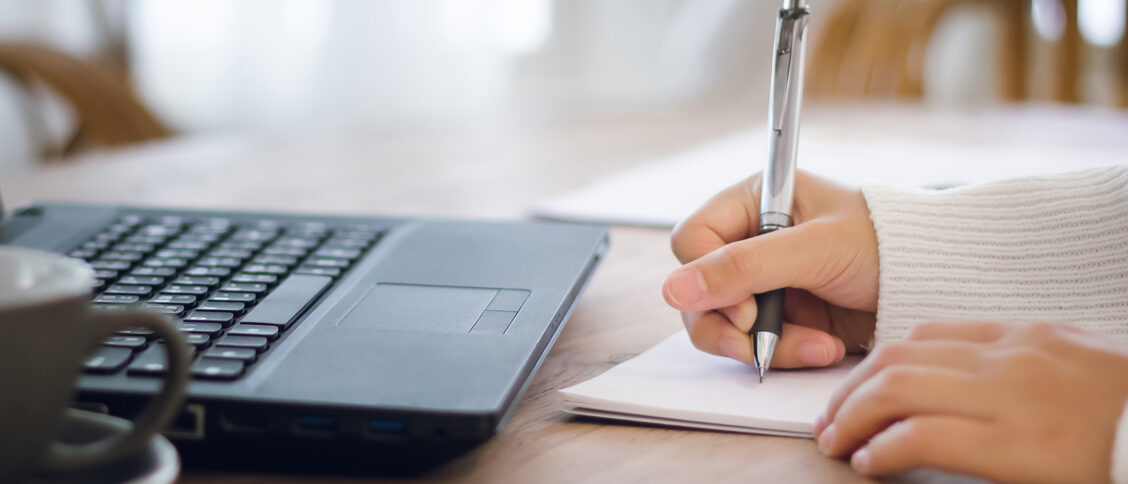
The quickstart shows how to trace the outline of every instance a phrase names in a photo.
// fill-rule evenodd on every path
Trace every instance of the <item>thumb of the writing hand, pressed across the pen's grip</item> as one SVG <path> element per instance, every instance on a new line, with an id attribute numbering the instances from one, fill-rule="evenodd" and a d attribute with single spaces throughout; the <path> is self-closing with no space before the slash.
<path id="1" fill-rule="evenodd" d="M 723 308 L 781 288 L 817 289 L 834 261 L 823 223 L 808 222 L 724 245 L 666 279 L 666 301 L 682 311 Z"/>

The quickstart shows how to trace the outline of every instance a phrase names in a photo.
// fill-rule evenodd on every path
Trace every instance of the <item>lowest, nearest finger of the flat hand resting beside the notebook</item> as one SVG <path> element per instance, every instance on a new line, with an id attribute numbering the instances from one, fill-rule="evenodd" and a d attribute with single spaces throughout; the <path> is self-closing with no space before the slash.
<path id="1" fill-rule="evenodd" d="M 987 423 L 948 415 L 914 416 L 876 434 L 851 458 L 867 476 L 934 468 L 960 474 L 990 474 L 1003 439 Z"/>

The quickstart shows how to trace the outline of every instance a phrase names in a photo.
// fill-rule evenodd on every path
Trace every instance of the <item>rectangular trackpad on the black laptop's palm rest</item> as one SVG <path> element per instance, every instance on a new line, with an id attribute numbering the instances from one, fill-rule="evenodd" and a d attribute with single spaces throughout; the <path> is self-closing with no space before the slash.
<path id="1" fill-rule="evenodd" d="M 426 333 L 469 333 L 497 292 L 497 289 L 487 288 L 372 284 L 337 325 Z"/>

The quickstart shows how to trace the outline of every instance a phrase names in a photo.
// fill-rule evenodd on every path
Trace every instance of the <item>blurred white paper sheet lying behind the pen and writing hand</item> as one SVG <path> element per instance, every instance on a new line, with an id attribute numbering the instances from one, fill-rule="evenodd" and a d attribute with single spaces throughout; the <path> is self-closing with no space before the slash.
<path id="1" fill-rule="evenodd" d="M 673 227 L 711 196 L 763 167 L 767 156 L 763 131 L 740 132 L 599 179 L 541 202 L 534 208 L 534 214 Z M 865 135 L 827 125 L 804 126 L 799 166 L 853 185 L 937 187 L 1125 161 L 1121 149 L 1078 150 L 1077 143 L 987 138 L 961 144 L 919 137 Z"/>

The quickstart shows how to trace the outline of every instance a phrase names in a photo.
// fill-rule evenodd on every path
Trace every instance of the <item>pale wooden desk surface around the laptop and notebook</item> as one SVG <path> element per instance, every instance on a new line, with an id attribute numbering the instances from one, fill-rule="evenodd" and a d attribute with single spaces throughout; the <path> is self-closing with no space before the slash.
<path id="1" fill-rule="evenodd" d="M 44 165 L 0 181 L 33 200 L 298 212 L 520 218 L 543 196 L 760 122 L 703 113 L 600 122 L 353 130 L 301 138 L 180 139 Z M 869 482 L 805 439 L 603 424 L 562 414 L 555 391 L 680 328 L 659 287 L 669 232 L 614 228 L 613 248 L 494 439 L 426 482 Z M 183 482 L 264 476 L 187 469 Z M 293 476 L 270 481 L 361 481 Z M 904 482 L 963 481 L 918 472 Z"/>

